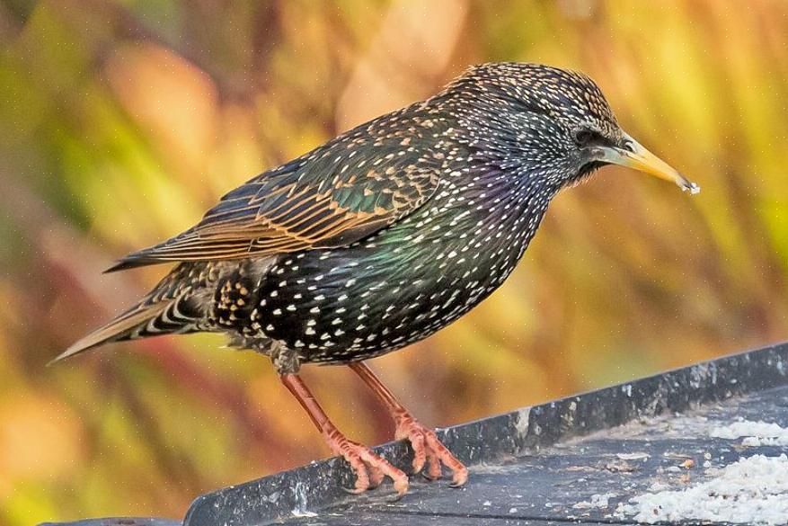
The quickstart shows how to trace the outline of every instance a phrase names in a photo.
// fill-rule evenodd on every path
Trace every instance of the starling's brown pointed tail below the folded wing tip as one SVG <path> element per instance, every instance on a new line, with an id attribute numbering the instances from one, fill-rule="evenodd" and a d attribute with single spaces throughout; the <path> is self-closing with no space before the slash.
<path id="1" fill-rule="evenodd" d="M 202 303 L 195 295 L 208 291 L 207 263 L 181 263 L 155 286 L 145 299 L 93 333 L 84 336 L 49 364 L 64 360 L 102 343 L 136 340 L 160 334 L 198 330 Z"/>

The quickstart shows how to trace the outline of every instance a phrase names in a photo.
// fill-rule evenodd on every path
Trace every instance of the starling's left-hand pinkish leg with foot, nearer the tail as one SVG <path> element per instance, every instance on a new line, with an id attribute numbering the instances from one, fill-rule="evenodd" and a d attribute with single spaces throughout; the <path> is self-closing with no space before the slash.
<path id="1" fill-rule="evenodd" d="M 332 451 L 347 460 L 356 473 L 356 487 L 351 490 L 352 493 L 361 493 L 378 486 L 385 476 L 394 480 L 394 489 L 398 495 L 408 491 L 408 476 L 366 446 L 349 441 L 329 420 L 301 377 L 297 374 L 282 374 L 279 379 L 304 407 Z"/>

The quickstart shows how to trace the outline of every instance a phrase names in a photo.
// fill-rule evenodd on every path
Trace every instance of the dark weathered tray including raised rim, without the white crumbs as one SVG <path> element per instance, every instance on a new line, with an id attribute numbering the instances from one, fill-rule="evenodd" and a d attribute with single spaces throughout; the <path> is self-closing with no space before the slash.
<path id="1" fill-rule="evenodd" d="M 703 480 L 743 454 L 740 441 L 710 436 L 736 417 L 788 426 L 788 343 L 442 430 L 472 467 L 462 489 L 414 478 L 398 502 L 388 486 L 350 496 L 341 489 L 352 486 L 350 469 L 330 459 L 202 495 L 184 526 L 633 523 L 618 503 L 657 481 L 680 489 Z M 376 450 L 410 465 L 403 443 Z"/>

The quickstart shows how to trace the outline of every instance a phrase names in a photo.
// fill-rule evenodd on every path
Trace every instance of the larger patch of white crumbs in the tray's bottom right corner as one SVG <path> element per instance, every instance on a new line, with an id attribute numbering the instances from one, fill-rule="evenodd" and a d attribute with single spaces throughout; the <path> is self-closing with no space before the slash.
<path id="1" fill-rule="evenodd" d="M 758 525 L 788 524 L 788 456 L 754 455 L 681 491 L 648 493 L 619 504 L 615 514 L 637 522 L 684 520 Z"/>

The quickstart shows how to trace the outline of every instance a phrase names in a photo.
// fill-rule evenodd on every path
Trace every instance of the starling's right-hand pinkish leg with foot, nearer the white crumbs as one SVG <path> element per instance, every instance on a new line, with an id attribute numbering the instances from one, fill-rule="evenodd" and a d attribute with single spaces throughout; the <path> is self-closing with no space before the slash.
<path id="1" fill-rule="evenodd" d="M 443 464 L 452 472 L 452 486 L 463 486 L 468 480 L 468 468 L 452 455 L 451 451 L 438 440 L 434 431 L 416 420 L 408 410 L 400 404 L 394 394 L 375 376 L 367 365 L 361 361 L 349 364 L 350 369 L 364 380 L 364 383 L 375 392 L 385 404 L 394 418 L 397 440 L 408 439 L 413 448 L 413 470 L 418 473 L 427 463 L 427 477 L 439 478 L 440 465 Z"/>

